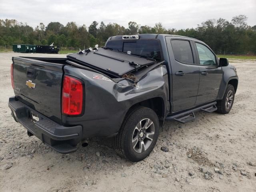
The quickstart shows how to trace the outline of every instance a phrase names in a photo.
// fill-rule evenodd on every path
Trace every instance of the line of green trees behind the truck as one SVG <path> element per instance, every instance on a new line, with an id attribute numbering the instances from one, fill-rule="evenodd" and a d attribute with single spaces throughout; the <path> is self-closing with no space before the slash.
<path id="1" fill-rule="evenodd" d="M 198 24 L 196 28 L 166 29 L 161 22 L 155 26 L 141 26 L 129 22 L 128 28 L 117 23 L 100 24 L 92 22 L 78 26 L 68 22 L 50 22 L 47 26 L 40 23 L 32 28 L 27 23 L 14 19 L 0 20 L 0 46 L 12 44 L 59 45 L 61 48 L 88 48 L 99 44 L 103 46 L 110 36 L 132 34 L 174 34 L 188 36 L 204 41 L 216 54 L 256 54 L 256 25 L 248 26 L 245 15 L 234 16 L 231 21 L 223 18 L 210 19 Z"/>

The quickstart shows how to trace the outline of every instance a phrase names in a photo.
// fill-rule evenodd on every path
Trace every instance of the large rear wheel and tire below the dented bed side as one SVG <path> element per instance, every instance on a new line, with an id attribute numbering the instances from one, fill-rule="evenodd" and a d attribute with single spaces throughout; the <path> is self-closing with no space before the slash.
<path id="1" fill-rule="evenodd" d="M 116 152 L 132 162 L 146 158 L 156 145 L 159 120 L 156 113 L 138 106 L 128 112 L 119 134 L 114 138 Z"/>

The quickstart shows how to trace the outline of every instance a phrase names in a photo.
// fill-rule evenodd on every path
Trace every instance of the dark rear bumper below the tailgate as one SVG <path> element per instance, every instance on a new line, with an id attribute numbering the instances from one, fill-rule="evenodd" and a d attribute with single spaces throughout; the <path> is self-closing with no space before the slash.
<path id="1" fill-rule="evenodd" d="M 15 97 L 9 98 L 8 106 L 13 118 L 44 144 L 63 154 L 77 150 L 77 144 L 82 139 L 82 126 L 65 127 L 57 124 Z M 38 116 L 39 120 L 33 121 L 32 114 Z"/>

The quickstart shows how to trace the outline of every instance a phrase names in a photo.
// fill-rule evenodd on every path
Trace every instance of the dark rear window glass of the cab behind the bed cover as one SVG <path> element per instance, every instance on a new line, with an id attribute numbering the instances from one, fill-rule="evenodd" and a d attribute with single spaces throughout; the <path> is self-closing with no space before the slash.
<path id="1" fill-rule="evenodd" d="M 161 47 L 157 39 L 113 40 L 108 41 L 106 47 L 126 54 L 161 60 Z"/>

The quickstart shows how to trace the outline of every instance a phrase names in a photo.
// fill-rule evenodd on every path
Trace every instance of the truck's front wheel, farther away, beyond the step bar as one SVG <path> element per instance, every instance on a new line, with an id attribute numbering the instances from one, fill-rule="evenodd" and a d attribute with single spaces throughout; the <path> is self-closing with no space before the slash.
<path id="1" fill-rule="evenodd" d="M 228 84 L 222 100 L 217 101 L 217 112 L 227 114 L 230 112 L 235 99 L 234 86 Z"/>

